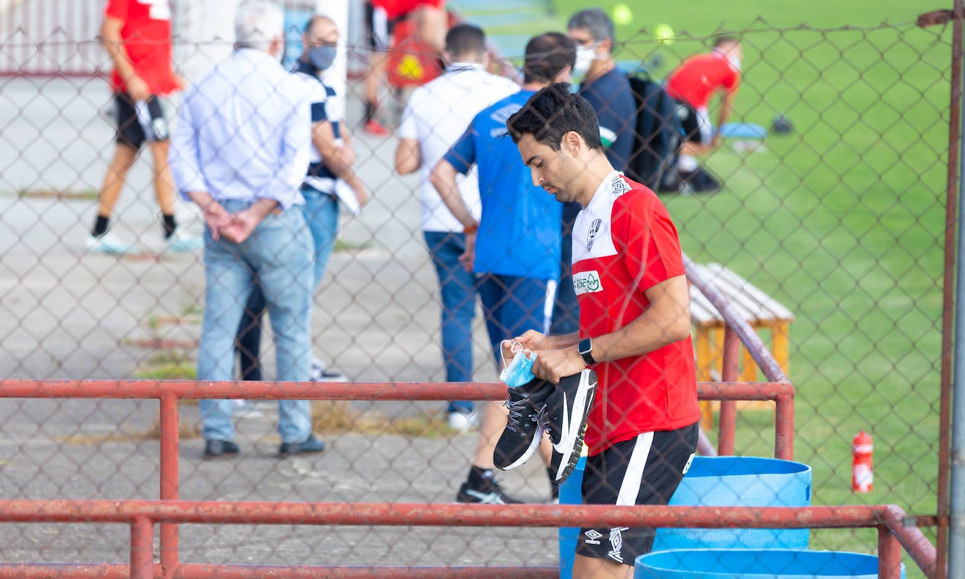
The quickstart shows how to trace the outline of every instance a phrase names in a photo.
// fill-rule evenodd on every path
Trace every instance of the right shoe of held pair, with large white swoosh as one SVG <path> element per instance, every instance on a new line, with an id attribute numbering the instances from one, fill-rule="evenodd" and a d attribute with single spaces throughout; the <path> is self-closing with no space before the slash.
<path id="1" fill-rule="evenodd" d="M 596 372 L 565 376 L 546 400 L 546 429 L 553 443 L 550 469 L 555 481 L 563 483 L 580 459 L 583 436 L 587 432 L 587 417 L 596 395 Z"/>

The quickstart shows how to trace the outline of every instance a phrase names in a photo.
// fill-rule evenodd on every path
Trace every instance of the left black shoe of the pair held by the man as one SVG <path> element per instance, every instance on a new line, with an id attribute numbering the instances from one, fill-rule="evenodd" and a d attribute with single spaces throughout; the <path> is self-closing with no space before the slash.
<path id="1" fill-rule="evenodd" d="M 512 470 L 536 454 L 542 440 L 546 399 L 552 392 L 553 385 L 538 378 L 509 389 L 506 407 L 510 416 L 492 454 L 496 468 Z"/>

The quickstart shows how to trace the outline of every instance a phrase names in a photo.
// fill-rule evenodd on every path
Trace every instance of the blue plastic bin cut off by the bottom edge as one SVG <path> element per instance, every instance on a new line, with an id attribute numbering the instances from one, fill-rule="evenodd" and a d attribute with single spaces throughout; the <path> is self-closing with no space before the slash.
<path id="1" fill-rule="evenodd" d="M 634 579 L 876 579 L 878 558 L 799 549 L 685 549 L 637 558 Z M 905 567 L 901 565 L 901 577 Z"/>

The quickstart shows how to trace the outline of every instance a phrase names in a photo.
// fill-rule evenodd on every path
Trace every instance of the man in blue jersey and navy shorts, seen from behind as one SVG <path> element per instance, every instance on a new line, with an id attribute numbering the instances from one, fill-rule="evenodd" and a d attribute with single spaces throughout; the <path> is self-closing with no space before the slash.
<path id="1" fill-rule="evenodd" d="M 479 276 L 486 330 L 497 364 L 501 343 L 528 329 L 549 329 L 560 276 L 562 207 L 533 185 L 529 169 L 506 137 L 506 120 L 551 82 L 566 82 L 576 59 L 572 41 L 559 33 L 526 45 L 522 90 L 483 109 L 432 170 L 431 180 L 466 234 L 463 265 Z M 459 195 L 456 175 L 479 169 L 482 218 L 477 221 Z M 493 481 L 493 450 L 506 427 L 506 410 L 487 405 L 462 503 L 515 502 Z M 543 459 L 549 464 L 549 445 Z M 550 474 L 550 480 L 554 479 Z M 554 487 L 556 497 L 558 490 Z"/>

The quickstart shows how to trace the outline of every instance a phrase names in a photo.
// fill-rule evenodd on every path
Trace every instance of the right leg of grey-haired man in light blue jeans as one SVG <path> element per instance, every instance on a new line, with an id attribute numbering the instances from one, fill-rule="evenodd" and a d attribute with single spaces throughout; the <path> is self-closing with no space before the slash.
<path id="1" fill-rule="evenodd" d="M 305 382 L 312 359 L 312 234 L 297 207 L 269 214 L 246 242 L 275 337 L 276 379 Z M 278 433 L 284 443 L 312 435 L 308 400 L 278 402 Z"/>

